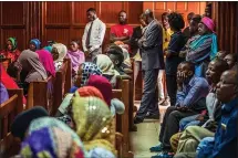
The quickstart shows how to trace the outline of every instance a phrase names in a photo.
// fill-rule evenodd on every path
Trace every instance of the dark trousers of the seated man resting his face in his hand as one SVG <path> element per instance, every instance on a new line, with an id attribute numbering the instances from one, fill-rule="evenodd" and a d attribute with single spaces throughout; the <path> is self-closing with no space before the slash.
<path id="1" fill-rule="evenodd" d="M 179 112 L 175 106 L 169 106 L 165 113 L 159 133 L 159 141 L 165 150 L 170 150 L 170 137 L 179 130 L 179 122 L 182 118 L 193 116 L 198 113 L 193 110 Z"/>

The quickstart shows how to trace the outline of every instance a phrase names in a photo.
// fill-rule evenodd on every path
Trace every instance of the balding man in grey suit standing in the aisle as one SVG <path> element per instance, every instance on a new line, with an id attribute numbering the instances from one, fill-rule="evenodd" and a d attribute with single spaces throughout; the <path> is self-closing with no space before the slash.
<path id="1" fill-rule="evenodd" d="M 144 72 L 144 89 L 142 103 L 134 124 L 139 124 L 145 117 L 158 118 L 158 95 L 156 94 L 156 83 L 158 71 L 164 69 L 163 57 L 163 30 L 162 25 L 154 18 L 152 10 L 146 10 L 144 13 L 147 30 L 142 39 L 138 40 L 138 45 L 142 51 L 142 70 Z"/>

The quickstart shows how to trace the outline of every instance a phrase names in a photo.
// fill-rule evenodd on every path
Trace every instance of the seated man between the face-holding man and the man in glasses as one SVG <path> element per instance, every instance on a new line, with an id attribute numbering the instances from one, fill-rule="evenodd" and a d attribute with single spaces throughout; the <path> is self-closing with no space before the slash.
<path id="1" fill-rule="evenodd" d="M 180 130 L 183 131 L 186 127 L 190 125 L 199 125 L 204 123 L 206 119 L 213 119 L 214 120 L 214 113 L 216 109 L 216 105 L 219 104 L 219 102 L 216 98 L 216 85 L 220 80 L 220 75 L 223 72 L 227 71 L 228 64 L 219 59 L 216 59 L 211 61 L 208 65 L 207 72 L 206 72 L 206 78 L 210 85 L 209 94 L 206 97 L 206 106 L 207 109 L 203 110 L 201 114 L 185 117 L 180 120 L 179 126 Z M 206 115 L 208 114 L 208 115 Z"/>

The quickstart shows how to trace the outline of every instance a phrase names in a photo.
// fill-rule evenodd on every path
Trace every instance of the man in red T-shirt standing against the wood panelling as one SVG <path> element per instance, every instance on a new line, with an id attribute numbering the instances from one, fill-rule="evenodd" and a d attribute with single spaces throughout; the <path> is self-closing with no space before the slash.
<path id="1" fill-rule="evenodd" d="M 131 52 L 130 38 L 133 34 L 133 28 L 127 24 L 127 15 L 125 11 L 118 13 L 118 24 L 113 25 L 110 32 L 110 41 L 112 43 L 121 43 Z"/>

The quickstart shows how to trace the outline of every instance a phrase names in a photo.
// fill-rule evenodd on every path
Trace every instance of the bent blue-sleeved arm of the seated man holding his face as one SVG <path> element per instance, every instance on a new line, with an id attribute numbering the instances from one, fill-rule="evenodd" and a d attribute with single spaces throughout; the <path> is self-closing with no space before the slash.
<path id="1" fill-rule="evenodd" d="M 208 85 L 205 82 L 195 82 L 187 95 L 182 91 L 177 92 L 177 104 L 189 107 L 204 97 L 204 93 L 208 93 Z"/>

